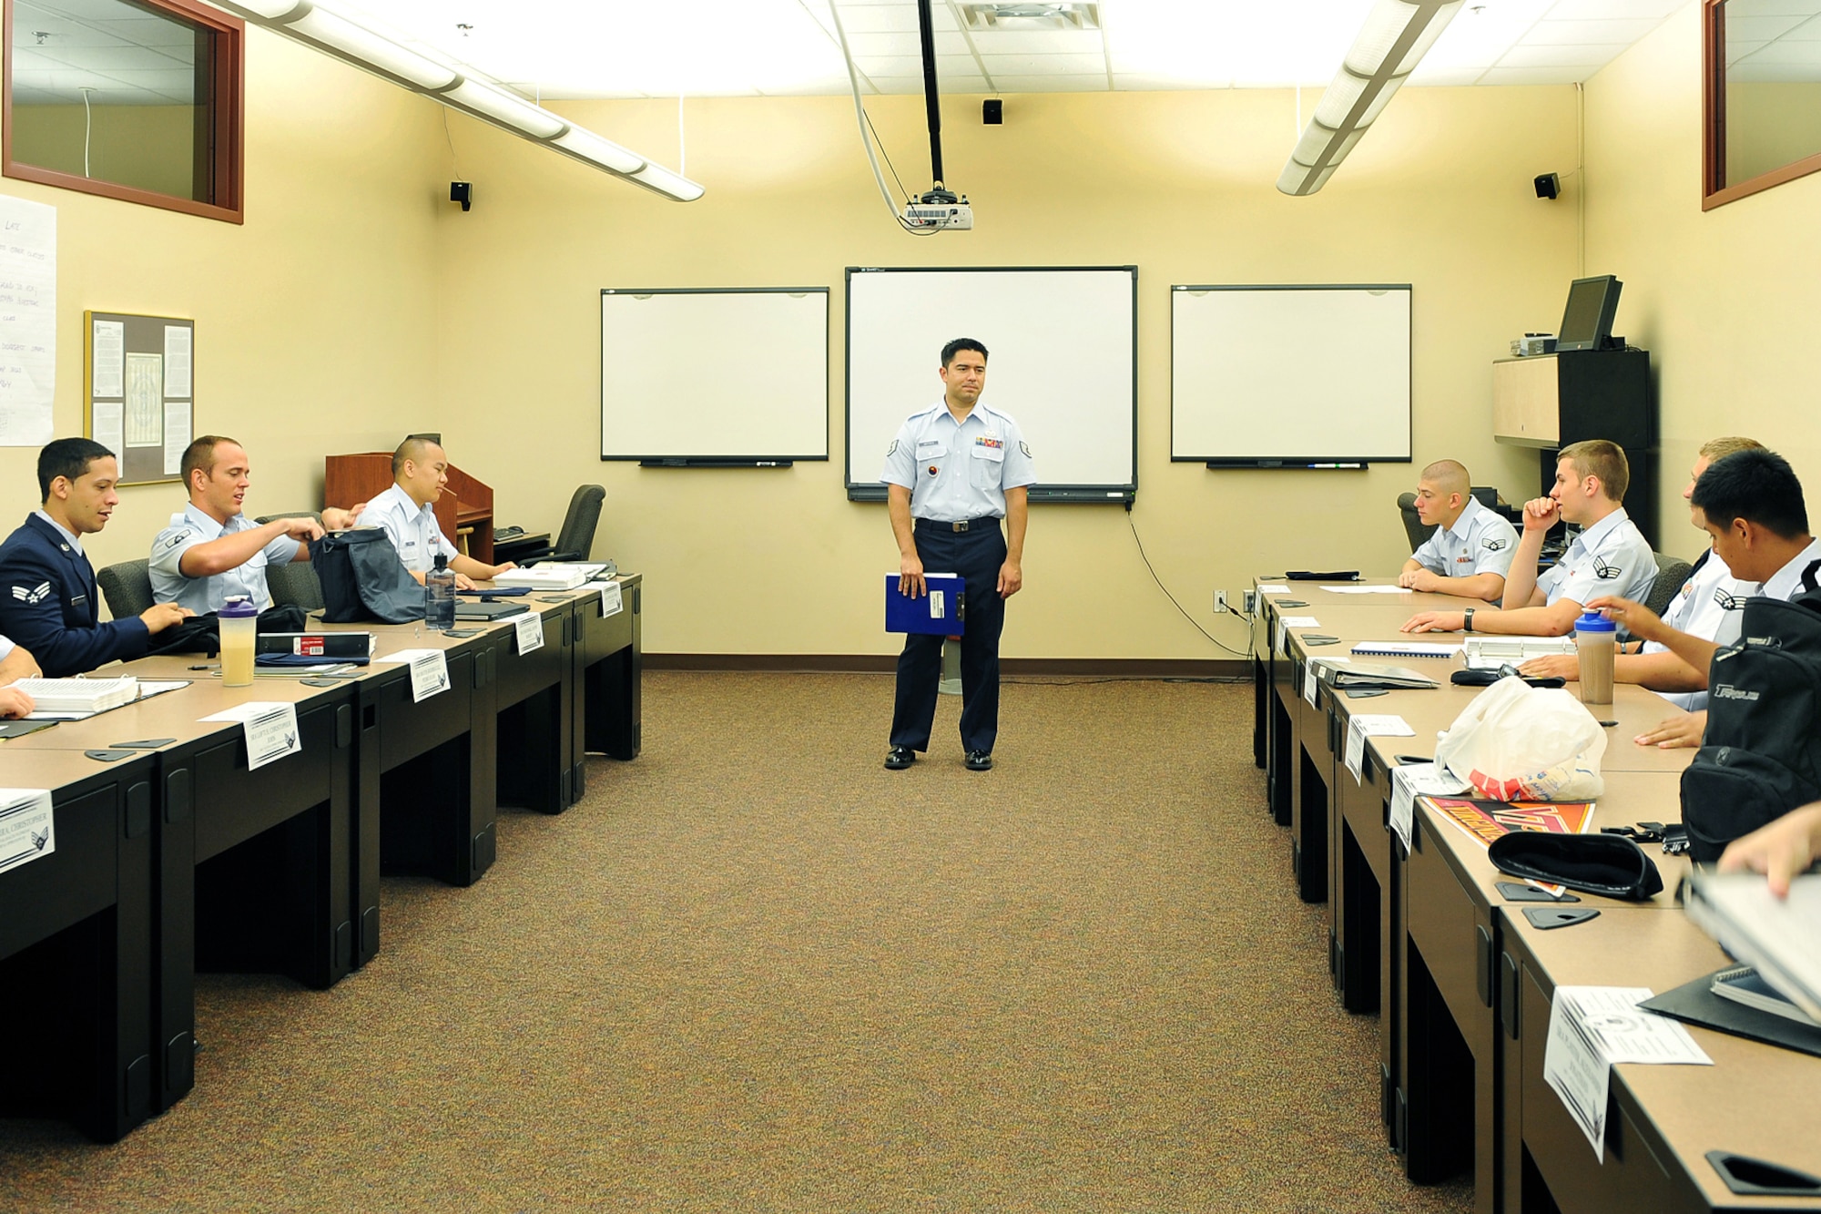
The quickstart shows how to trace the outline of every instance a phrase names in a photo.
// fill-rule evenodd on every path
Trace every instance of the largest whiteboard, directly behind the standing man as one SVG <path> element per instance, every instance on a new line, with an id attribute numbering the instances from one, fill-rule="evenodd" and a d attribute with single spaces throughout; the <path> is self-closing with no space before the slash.
<path id="1" fill-rule="evenodd" d="M 847 268 L 847 496 L 885 501 L 898 427 L 941 399 L 941 348 L 987 346 L 989 408 L 1036 461 L 1031 501 L 1138 490 L 1138 268 Z"/>

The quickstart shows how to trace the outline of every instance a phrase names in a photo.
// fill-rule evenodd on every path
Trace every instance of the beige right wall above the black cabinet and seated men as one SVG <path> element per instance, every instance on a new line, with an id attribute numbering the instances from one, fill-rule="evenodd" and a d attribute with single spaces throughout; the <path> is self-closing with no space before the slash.
<path id="1" fill-rule="evenodd" d="M 1701 210 L 1699 5 L 1593 77 L 1586 155 L 1588 273 L 1624 283 L 1617 328 L 1657 372 L 1666 543 L 1703 547 L 1692 529 L 1677 545 L 1673 520 L 1681 472 L 1719 434 L 1788 456 L 1821 507 L 1821 175 Z"/>

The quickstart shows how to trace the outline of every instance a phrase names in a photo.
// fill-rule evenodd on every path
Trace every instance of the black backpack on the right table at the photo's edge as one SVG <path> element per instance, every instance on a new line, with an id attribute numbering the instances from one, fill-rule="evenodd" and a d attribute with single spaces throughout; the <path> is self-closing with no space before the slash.
<path id="1" fill-rule="evenodd" d="M 1814 561 L 1790 602 L 1750 598 L 1739 640 L 1708 667 L 1708 724 L 1683 771 L 1690 855 L 1821 800 L 1821 592 Z"/>

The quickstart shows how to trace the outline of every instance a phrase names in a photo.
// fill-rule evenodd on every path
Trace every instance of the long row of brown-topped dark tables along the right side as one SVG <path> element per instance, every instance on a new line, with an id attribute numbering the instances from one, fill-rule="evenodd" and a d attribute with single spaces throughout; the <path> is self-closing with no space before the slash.
<path id="1" fill-rule="evenodd" d="M 1522 919 L 1524 904 L 1511 902 L 1497 888 L 1501 877 L 1491 869 L 1482 846 L 1426 808 L 1419 806 L 1409 853 L 1404 853 L 1388 831 L 1391 787 L 1388 773 L 1397 766 L 1397 756 L 1431 756 L 1437 731 L 1446 729 L 1477 694 L 1477 689 L 1446 684 L 1448 674 L 1460 665 L 1459 658 L 1364 658 L 1435 673 L 1444 685 L 1439 691 L 1391 691 L 1353 698 L 1346 693 L 1337 694 L 1331 684 L 1317 680 L 1315 704 L 1309 704 L 1304 698 L 1309 691 L 1306 684 L 1309 658 L 1351 656 L 1353 642 L 1395 638 L 1397 625 L 1420 607 L 1384 605 L 1384 600 L 1393 596 L 1320 602 L 1307 594 L 1304 583 L 1291 585 L 1287 598 L 1302 598 L 1307 607 L 1282 609 L 1277 605 L 1282 598 L 1286 596 L 1266 596 L 1255 634 L 1255 674 L 1258 667 L 1267 671 L 1258 678 L 1262 720 L 1256 722 L 1260 725 L 1256 736 L 1264 738 L 1264 746 L 1255 746 L 1255 758 L 1266 758 L 1267 769 L 1273 760 L 1287 767 L 1280 773 L 1273 809 L 1282 800 L 1289 802 L 1287 824 L 1293 828 L 1293 877 L 1298 893 L 1309 900 L 1328 900 L 1329 962 L 1342 1006 L 1380 1013 L 1382 1106 L 1388 1134 L 1404 1156 L 1406 1170 L 1417 1181 L 1437 1181 L 1471 1170 L 1479 1210 L 1515 1214 L 1531 1209 L 1602 1212 L 1653 1209 L 1630 1198 L 1624 1183 L 1613 1181 L 1613 1168 L 1623 1167 L 1615 1163 L 1617 1152 L 1610 1152 L 1608 1163 L 1601 1167 L 1572 1125 L 1568 1137 L 1544 1130 L 1531 1132 L 1533 1125 L 1555 1125 L 1539 1108 L 1566 1117 L 1555 1094 L 1546 1086 L 1539 1094 L 1521 1070 L 1533 1066 L 1541 1077 L 1546 1003 L 1541 1019 L 1535 1010 L 1528 1017 L 1528 1023 L 1537 1026 L 1528 1035 L 1531 1052 L 1522 1054 L 1511 1046 L 1522 1039 L 1517 1035 L 1517 1026 L 1526 988 L 1519 975 L 1528 973 L 1522 968 L 1526 962 L 1542 964 L 1524 952 L 1526 942 L 1570 941 L 1588 924 L 1539 933 Z M 1369 607 L 1357 607 L 1360 602 Z M 1284 614 L 1317 616 L 1320 625 L 1278 629 L 1277 618 Z M 1311 633 L 1338 636 L 1340 642 L 1304 643 L 1300 638 Z M 1462 638 L 1440 634 L 1408 640 L 1455 643 Z M 1415 736 L 1368 738 L 1358 778 L 1342 762 L 1353 711 L 1395 713 L 1415 729 Z M 1599 798 L 1595 828 L 1679 820 L 1677 777 L 1690 751 L 1637 747 L 1630 740 L 1673 711 L 1652 693 L 1619 687 L 1610 716 L 1619 724 L 1608 736 L 1602 758 L 1606 793 Z M 1324 855 L 1309 857 L 1317 846 Z M 1666 882 L 1664 893 L 1655 899 L 1635 904 L 1577 895 L 1586 908 L 1602 911 L 1601 919 L 1592 921 L 1606 922 L 1602 931 L 1613 930 L 1612 915 L 1619 917 L 1619 924 L 1643 924 L 1646 919 L 1641 917 L 1675 908 L 1673 890 L 1686 871 L 1686 862 L 1657 855 L 1657 848 L 1648 848 L 1648 853 Z M 1692 933 L 1695 944 L 1704 942 L 1683 915 L 1663 915 L 1657 922 L 1664 931 L 1668 928 L 1661 924 L 1673 922 L 1677 930 Z M 1675 970 L 1675 981 L 1637 984 L 1652 984 L 1661 992 L 1719 968 L 1721 953 L 1710 942 L 1703 946 L 1706 952 L 1695 952 L 1712 961 L 1703 970 L 1690 970 L 1684 964 Z M 1531 975 L 1530 981 L 1546 986 L 1548 973 Z M 1566 981 L 1617 979 L 1595 973 Z M 1704 1030 L 1695 1034 L 1704 1046 L 1708 1039 L 1721 1037 Z M 1723 1048 L 1730 1057 L 1750 1059 L 1766 1074 L 1796 1066 L 1812 1085 L 1821 1085 L 1817 1059 L 1739 1039 L 1724 1041 Z M 1692 1068 L 1621 1070 L 1648 1072 L 1639 1083 L 1675 1086 L 1683 1079 L 1666 1072 Z M 1737 1083 L 1752 1085 L 1755 1079 L 1741 1077 Z M 1653 1125 L 1652 1116 L 1641 1110 L 1630 1123 L 1613 1119 L 1613 1125 Z M 1701 1112 L 1681 1108 L 1675 1125 L 1692 1143 L 1706 1141 L 1703 1134 L 1712 1139 L 1732 1132 L 1735 1137 L 1728 1150 L 1792 1167 L 1803 1167 L 1803 1159 L 1812 1159 L 1806 1152 L 1792 1156 L 1786 1150 L 1786 1136 L 1777 1137 L 1772 1132 L 1779 1123 L 1759 1117 L 1759 1123 L 1766 1121 L 1768 1136 L 1754 1137 L 1737 1130 L 1735 1119 L 1697 1125 L 1703 1123 Z M 1812 1132 L 1817 1123 L 1810 1119 L 1806 1128 Z M 1531 1137 L 1535 1141 L 1530 1141 Z M 1679 1147 L 1672 1154 L 1683 1168 L 1675 1183 L 1668 1185 L 1668 1190 L 1679 1194 L 1670 1209 L 1821 1209 L 1821 1201 L 1803 1201 L 1786 1194 L 1770 1198 L 1734 1194 L 1721 1183 L 1717 1170 L 1701 1157 L 1708 1148 L 1712 1147 L 1701 1150 Z M 1675 1172 L 1670 1167 L 1659 1170 Z M 1551 1201 L 1555 1205 L 1550 1205 Z"/>

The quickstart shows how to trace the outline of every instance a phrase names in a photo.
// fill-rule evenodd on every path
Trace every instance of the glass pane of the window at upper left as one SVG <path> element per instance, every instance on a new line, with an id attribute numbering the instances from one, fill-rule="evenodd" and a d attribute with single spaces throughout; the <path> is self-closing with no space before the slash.
<path id="1" fill-rule="evenodd" d="M 213 38 L 133 0 L 13 0 L 11 159 L 213 202 Z"/>

